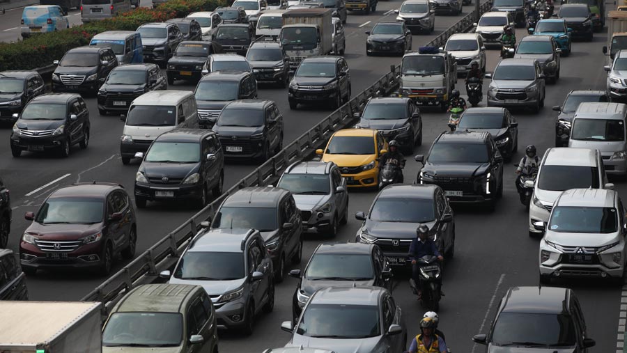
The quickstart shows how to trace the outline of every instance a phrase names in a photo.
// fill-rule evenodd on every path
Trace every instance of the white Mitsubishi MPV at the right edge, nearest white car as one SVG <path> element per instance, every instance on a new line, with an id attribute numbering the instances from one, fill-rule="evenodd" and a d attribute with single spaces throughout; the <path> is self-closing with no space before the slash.
<path id="1" fill-rule="evenodd" d="M 555 201 L 540 242 L 540 280 L 548 282 L 558 276 L 622 279 L 624 214 L 616 191 L 564 191 Z"/>

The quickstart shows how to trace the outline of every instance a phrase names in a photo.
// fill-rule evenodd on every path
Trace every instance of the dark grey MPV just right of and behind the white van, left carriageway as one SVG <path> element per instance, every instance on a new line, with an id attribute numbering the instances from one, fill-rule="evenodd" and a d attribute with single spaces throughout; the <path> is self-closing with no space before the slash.
<path id="1" fill-rule="evenodd" d="M 216 71 L 201 79 L 194 91 L 200 127 L 211 129 L 226 104 L 257 97 L 257 83 L 251 72 Z"/>

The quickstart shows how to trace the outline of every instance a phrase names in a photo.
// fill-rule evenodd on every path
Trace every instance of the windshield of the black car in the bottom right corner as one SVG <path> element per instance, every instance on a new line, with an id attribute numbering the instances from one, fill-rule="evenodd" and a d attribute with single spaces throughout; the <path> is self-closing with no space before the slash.
<path id="1" fill-rule="evenodd" d="M 575 345 L 575 327 L 568 314 L 501 313 L 494 324 L 492 343 L 571 347 Z"/>

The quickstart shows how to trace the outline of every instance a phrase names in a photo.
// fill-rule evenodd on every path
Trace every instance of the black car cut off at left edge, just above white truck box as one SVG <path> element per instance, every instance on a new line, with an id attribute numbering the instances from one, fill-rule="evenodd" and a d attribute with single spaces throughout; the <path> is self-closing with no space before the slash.
<path id="1" fill-rule="evenodd" d="M 26 276 L 9 249 L 0 249 L 0 300 L 29 300 Z"/>

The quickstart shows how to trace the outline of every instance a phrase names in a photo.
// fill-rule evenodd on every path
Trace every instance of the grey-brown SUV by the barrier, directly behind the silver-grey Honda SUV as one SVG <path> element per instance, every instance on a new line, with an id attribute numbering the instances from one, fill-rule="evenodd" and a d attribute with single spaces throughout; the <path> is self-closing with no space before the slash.
<path id="1" fill-rule="evenodd" d="M 274 280 L 284 279 L 285 262 L 302 258 L 300 210 L 290 191 L 279 187 L 247 187 L 226 198 L 211 228 L 254 228 L 261 232 L 272 257 Z"/>

